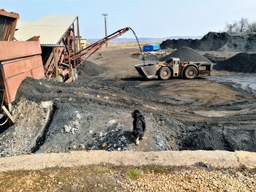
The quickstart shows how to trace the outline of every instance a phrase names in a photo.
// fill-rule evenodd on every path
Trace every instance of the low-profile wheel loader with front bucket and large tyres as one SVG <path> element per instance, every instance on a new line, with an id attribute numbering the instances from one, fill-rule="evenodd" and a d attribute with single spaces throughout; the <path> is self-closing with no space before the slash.
<path id="1" fill-rule="evenodd" d="M 211 74 L 213 64 L 207 62 L 181 62 L 179 58 L 170 58 L 167 61 L 158 61 L 157 64 L 135 65 L 138 73 L 148 79 L 168 80 L 170 77 L 205 77 Z"/>

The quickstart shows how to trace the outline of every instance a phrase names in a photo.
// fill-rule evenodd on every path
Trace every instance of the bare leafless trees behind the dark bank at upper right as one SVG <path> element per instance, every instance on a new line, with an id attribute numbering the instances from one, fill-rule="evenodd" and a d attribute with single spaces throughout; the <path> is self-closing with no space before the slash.
<path id="1" fill-rule="evenodd" d="M 233 23 L 227 23 L 225 26 L 227 33 L 243 33 L 243 32 L 256 32 L 256 21 L 249 21 L 246 18 L 236 20 Z"/>

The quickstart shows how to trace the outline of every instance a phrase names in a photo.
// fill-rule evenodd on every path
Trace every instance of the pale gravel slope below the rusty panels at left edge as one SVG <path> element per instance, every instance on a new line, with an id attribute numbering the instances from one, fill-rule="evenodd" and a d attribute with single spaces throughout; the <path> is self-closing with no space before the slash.
<path id="1" fill-rule="evenodd" d="M 0 157 L 34 151 L 45 137 L 45 128 L 52 110 L 51 101 L 35 103 L 21 99 L 14 110 L 15 125 L 0 132 Z"/>

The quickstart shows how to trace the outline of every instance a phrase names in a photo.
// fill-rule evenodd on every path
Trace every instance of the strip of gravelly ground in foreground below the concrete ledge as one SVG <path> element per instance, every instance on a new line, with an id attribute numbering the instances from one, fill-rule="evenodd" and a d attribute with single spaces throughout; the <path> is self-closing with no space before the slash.
<path id="1" fill-rule="evenodd" d="M 256 172 L 104 165 L 1 172 L 0 184 L 4 191 L 255 191 Z"/>

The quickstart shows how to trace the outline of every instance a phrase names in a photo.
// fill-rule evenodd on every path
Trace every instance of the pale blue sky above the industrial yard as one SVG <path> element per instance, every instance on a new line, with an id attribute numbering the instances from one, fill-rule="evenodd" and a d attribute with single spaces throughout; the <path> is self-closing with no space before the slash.
<path id="1" fill-rule="evenodd" d="M 102 13 L 108 13 L 108 34 L 129 26 L 138 37 L 159 38 L 203 36 L 241 18 L 256 20 L 255 0 L 0 0 L 0 9 L 18 12 L 20 20 L 78 15 L 86 39 L 105 36 Z"/>

